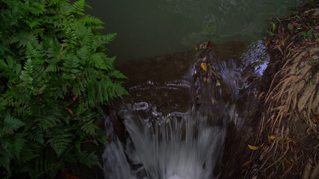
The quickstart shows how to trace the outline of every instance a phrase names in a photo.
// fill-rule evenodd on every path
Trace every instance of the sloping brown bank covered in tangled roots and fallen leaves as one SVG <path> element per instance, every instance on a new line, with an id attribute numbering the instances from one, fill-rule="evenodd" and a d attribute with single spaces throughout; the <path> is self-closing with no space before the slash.
<path id="1" fill-rule="evenodd" d="M 318 17 L 315 0 L 270 19 L 258 106 L 222 178 L 318 179 Z"/>

